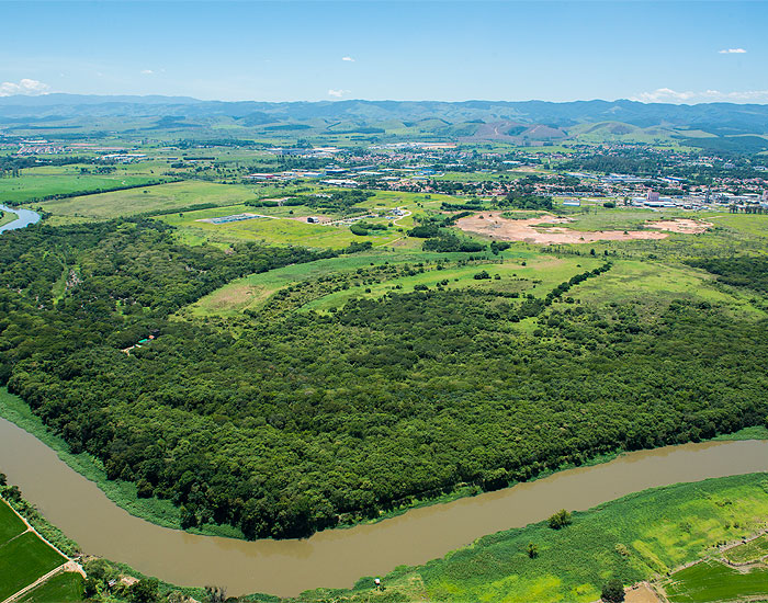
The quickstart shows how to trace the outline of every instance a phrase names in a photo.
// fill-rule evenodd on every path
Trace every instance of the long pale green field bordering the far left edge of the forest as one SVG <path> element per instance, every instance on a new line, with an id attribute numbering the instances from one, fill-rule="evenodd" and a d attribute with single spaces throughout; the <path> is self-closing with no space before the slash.
<path id="1" fill-rule="evenodd" d="M 48 201 L 42 206 L 54 216 L 106 219 L 183 209 L 201 203 L 235 205 L 252 198 L 256 195 L 247 186 L 188 180 L 146 189 Z"/>

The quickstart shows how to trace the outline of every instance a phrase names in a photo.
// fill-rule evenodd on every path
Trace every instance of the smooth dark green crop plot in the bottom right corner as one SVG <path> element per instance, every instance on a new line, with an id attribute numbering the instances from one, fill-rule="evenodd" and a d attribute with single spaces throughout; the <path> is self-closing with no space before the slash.
<path id="1" fill-rule="evenodd" d="M 671 603 L 714 603 L 768 596 L 768 568 L 739 571 L 720 561 L 702 561 L 662 582 Z"/>

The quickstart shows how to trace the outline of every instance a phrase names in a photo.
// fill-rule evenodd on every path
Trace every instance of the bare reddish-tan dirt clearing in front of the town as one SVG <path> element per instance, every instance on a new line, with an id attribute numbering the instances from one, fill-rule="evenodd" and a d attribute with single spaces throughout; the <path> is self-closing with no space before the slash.
<path id="1" fill-rule="evenodd" d="M 482 216 L 482 217 L 481 217 Z M 501 212 L 488 212 L 476 216 L 462 218 L 456 226 L 467 232 L 486 235 L 505 241 L 526 241 L 530 243 L 581 243 L 594 241 L 626 241 L 632 239 L 664 239 L 669 232 L 703 232 L 711 225 L 693 219 L 671 219 L 648 221 L 652 230 L 595 230 L 580 231 L 558 226 L 541 227 L 543 224 L 567 224 L 569 218 L 542 216 L 524 220 L 512 220 L 501 217 Z"/>

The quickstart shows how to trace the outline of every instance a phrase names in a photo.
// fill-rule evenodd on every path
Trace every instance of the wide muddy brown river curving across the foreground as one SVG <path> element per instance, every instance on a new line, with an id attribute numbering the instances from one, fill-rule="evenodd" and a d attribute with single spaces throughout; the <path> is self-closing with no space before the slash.
<path id="1" fill-rule="evenodd" d="M 585 510 L 655 486 L 767 471 L 768 441 L 629 453 L 602 465 L 302 541 L 197 536 L 134 517 L 53 450 L 4 419 L 0 419 L 0 469 L 87 553 L 176 584 L 223 585 L 230 595 L 292 596 L 317 587 L 351 587 L 362 576 L 382 576 L 398 565 L 423 564 L 486 534 L 541 521 L 562 508 Z"/>

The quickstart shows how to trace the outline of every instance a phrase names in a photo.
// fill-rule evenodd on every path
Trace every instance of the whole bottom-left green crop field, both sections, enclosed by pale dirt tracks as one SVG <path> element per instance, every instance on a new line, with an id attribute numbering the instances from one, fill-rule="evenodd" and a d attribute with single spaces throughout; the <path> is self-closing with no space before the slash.
<path id="1" fill-rule="evenodd" d="M 0 601 L 4 601 L 66 561 L 44 543 L 8 504 L 0 502 Z"/>

